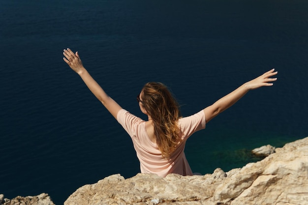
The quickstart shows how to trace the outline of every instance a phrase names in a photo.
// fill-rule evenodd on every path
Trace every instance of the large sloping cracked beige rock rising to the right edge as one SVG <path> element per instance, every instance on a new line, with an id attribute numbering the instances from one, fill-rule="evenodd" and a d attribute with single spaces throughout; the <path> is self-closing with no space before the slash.
<path id="1" fill-rule="evenodd" d="M 308 205 L 308 138 L 247 164 L 217 187 L 212 201 L 226 205 Z"/>

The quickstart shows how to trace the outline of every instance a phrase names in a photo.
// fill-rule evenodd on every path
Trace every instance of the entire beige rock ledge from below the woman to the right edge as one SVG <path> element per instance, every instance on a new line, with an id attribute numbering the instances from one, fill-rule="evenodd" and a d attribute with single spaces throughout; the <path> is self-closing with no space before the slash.
<path id="1" fill-rule="evenodd" d="M 64 205 L 308 205 L 308 138 L 224 173 L 165 178 L 108 176 L 77 189 Z"/>

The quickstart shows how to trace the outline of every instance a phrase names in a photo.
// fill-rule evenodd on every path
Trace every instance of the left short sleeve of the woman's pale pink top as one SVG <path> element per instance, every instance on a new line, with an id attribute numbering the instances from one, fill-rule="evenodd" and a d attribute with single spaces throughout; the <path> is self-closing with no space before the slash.
<path id="1" fill-rule="evenodd" d="M 124 109 L 118 112 L 117 120 L 130 137 L 136 136 L 135 133 L 138 125 L 144 122 L 140 117 L 136 117 Z"/>

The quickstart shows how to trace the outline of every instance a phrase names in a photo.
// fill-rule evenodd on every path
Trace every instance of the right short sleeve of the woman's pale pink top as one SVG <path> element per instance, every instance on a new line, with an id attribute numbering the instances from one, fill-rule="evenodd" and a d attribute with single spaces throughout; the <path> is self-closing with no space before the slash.
<path id="1" fill-rule="evenodd" d="M 179 120 L 179 123 L 182 132 L 182 139 L 185 140 L 194 132 L 205 129 L 206 121 L 204 111 L 201 110 L 192 116 L 183 117 Z"/>

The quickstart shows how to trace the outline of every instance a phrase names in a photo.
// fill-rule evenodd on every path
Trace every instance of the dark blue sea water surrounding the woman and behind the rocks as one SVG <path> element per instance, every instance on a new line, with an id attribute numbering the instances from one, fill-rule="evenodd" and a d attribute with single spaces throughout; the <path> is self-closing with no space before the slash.
<path id="1" fill-rule="evenodd" d="M 307 11 L 307 0 L 1 0 L 0 193 L 46 192 L 59 205 L 84 184 L 139 172 L 128 135 L 62 60 L 67 47 L 140 117 L 146 82 L 169 86 L 187 116 L 275 67 L 273 87 L 188 140 L 193 172 L 242 167 L 245 149 L 308 136 Z"/>

